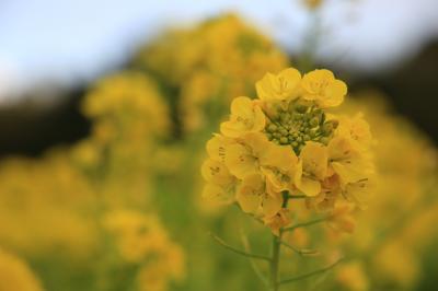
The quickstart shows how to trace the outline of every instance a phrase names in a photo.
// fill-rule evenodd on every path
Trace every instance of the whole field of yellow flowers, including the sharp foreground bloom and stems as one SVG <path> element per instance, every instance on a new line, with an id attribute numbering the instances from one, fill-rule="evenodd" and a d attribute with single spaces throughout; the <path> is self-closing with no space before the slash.
<path id="1" fill-rule="evenodd" d="M 157 37 L 81 108 L 85 139 L 0 162 L 0 291 L 431 290 L 436 148 L 238 16 Z"/>

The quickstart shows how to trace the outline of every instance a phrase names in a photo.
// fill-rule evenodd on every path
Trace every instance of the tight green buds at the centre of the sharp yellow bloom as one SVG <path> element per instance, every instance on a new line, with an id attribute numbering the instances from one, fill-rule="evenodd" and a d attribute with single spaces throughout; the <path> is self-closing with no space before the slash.
<path id="1" fill-rule="evenodd" d="M 275 143 L 290 144 L 299 154 L 307 141 L 327 144 L 336 127 L 337 120 L 325 120 L 321 108 L 291 102 L 287 109 L 279 107 L 270 115 L 265 133 Z"/>

